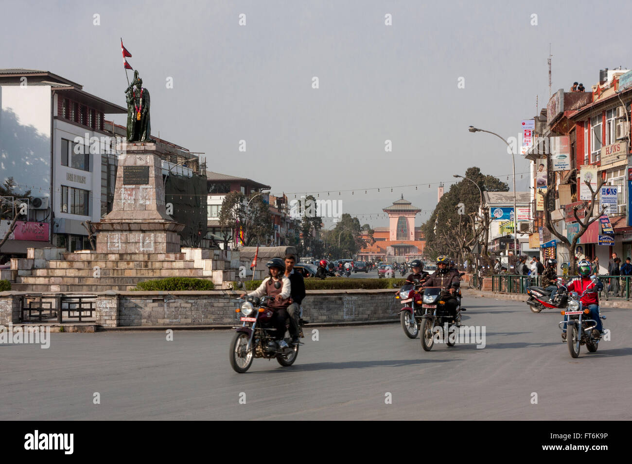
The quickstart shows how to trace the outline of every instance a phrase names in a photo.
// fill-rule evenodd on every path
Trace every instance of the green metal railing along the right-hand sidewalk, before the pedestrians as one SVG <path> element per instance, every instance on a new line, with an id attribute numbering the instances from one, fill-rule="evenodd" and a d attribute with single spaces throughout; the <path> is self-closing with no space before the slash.
<path id="1" fill-rule="evenodd" d="M 541 287 L 542 276 L 526 276 L 514 274 L 492 275 L 492 292 L 525 294 L 526 288 Z M 600 275 L 597 276 L 604 284 L 604 289 L 599 292 L 599 298 L 604 300 L 629 300 L 632 290 L 632 276 L 625 275 Z M 565 277 L 569 282 L 571 278 Z"/>

